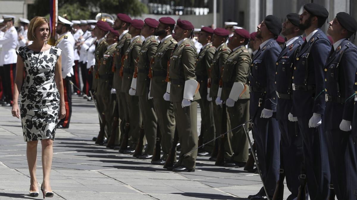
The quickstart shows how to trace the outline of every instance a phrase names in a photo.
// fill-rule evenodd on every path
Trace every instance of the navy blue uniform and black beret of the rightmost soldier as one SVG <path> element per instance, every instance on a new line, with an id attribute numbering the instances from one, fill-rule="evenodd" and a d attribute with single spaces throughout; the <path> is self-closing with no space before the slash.
<path id="1" fill-rule="evenodd" d="M 357 22 L 346 12 L 337 13 L 336 19 L 346 30 L 356 32 Z M 357 144 L 351 131 L 347 131 L 350 130 L 353 116 L 356 63 L 357 47 L 343 38 L 334 42 L 324 68 L 327 90 L 324 129 L 328 141 L 331 182 L 337 199 L 346 200 L 355 200 L 357 189 Z M 349 122 L 348 129 L 340 125 L 342 120 Z"/>

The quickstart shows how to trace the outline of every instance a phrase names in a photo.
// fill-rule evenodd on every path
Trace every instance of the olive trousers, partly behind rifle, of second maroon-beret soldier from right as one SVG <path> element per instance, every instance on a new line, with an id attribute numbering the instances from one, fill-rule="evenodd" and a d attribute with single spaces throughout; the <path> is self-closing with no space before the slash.
<path id="1" fill-rule="evenodd" d="M 216 127 L 216 137 L 220 136 L 221 134 L 225 133 L 222 132 L 222 114 L 223 114 L 223 109 L 221 107 L 221 105 L 216 105 L 216 98 L 212 98 L 212 106 L 213 106 L 213 119 L 215 121 L 215 127 Z M 231 125 L 230 125 L 230 121 L 228 120 L 228 114 L 227 114 L 227 131 L 231 130 Z M 231 141 L 232 141 L 232 132 L 228 132 L 226 134 L 226 140 L 225 140 L 225 144 L 224 144 L 224 149 L 225 149 L 225 153 L 224 153 L 224 157 L 225 159 L 231 159 L 231 156 L 233 156 L 233 149 L 231 146 Z M 218 145 L 220 143 L 220 138 L 218 138 L 215 142 L 216 145 Z"/>

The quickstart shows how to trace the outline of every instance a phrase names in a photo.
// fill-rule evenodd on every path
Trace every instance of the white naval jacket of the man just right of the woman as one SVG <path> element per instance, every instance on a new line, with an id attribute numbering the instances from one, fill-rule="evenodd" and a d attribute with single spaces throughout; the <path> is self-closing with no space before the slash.
<path id="1" fill-rule="evenodd" d="M 71 77 L 74 65 L 74 45 L 75 40 L 70 31 L 58 36 L 57 47 L 62 50 L 62 78 Z"/>

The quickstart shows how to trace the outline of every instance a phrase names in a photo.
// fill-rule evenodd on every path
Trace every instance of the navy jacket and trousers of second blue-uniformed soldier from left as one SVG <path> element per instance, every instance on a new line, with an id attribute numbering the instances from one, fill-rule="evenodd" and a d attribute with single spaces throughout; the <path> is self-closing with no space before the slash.
<path id="1" fill-rule="evenodd" d="M 297 14 L 296 14 L 297 15 Z M 298 22 L 297 22 L 298 23 Z M 290 41 L 293 41 L 292 43 Z M 291 38 L 279 54 L 276 61 L 275 84 L 277 94 L 276 119 L 281 132 L 280 141 L 280 170 L 286 177 L 286 184 L 291 192 L 288 199 L 298 195 L 301 172 L 302 137 L 297 122 L 288 120 L 292 106 L 292 63 L 296 50 L 303 44 L 302 37 Z M 283 171 L 282 171 L 283 170 Z"/>

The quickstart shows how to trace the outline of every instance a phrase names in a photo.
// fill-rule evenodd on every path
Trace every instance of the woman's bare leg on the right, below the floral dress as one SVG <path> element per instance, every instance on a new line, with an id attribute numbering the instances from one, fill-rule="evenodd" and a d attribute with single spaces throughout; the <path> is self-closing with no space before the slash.
<path id="1" fill-rule="evenodd" d="M 52 143 L 53 141 L 50 139 L 41 140 L 42 144 L 42 170 L 43 170 L 43 181 L 42 185 L 46 192 L 50 192 L 50 172 L 51 172 L 51 165 L 52 165 Z"/>

